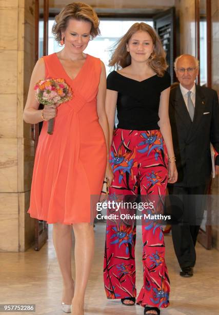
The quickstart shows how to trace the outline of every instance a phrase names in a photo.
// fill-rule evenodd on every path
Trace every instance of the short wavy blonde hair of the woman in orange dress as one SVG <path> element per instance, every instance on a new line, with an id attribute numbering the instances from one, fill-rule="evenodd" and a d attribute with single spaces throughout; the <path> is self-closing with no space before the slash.
<path id="1" fill-rule="evenodd" d="M 86 3 L 73 2 L 65 6 L 62 11 L 55 16 L 52 33 L 58 43 L 62 40 L 62 31 L 66 30 L 70 19 L 91 22 L 91 39 L 100 34 L 99 19 L 92 7 Z"/>

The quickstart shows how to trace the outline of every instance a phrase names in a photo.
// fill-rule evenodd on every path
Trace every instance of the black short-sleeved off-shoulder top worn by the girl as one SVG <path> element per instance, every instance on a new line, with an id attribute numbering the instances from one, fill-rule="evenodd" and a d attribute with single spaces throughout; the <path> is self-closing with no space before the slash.
<path id="1" fill-rule="evenodd" d="M 128 130 L 160 129 L 158 109 L 161 92 L 169 88 L 170 75 L 154 75 L 143 81 L 127 78 L 113 71 L 107 77 L 107 89 L 118 92 L 117 128 Z"/>

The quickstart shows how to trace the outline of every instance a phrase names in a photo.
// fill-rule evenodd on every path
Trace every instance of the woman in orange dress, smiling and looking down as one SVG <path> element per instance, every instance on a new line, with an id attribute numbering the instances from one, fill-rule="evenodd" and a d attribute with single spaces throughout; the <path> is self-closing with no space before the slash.
<path id="1" fill-rule="evenodd" d="M 99 33 L 98 17 L 83 3 L 67 5 L 55 18 L 53 33 L 63 50 L 39 59 L 34 67 L 24 120 L 43 121 L 31 186 L 31 217 L 53 223 L 53 243 L 63 277 L 62 309 L 84 314 L 84 296 L 94 253 L 91 198 L 101 193 L 107 162 L 106 72 L 101 60 L 83 53 Z M 38 110 L 34 85 L 62 78 L 73 98 L 59 107 Z M 48 120 L 55 117 L 53 134 Z M 71 273 L 72 228 L 75 235 L 75 287 Z"/>

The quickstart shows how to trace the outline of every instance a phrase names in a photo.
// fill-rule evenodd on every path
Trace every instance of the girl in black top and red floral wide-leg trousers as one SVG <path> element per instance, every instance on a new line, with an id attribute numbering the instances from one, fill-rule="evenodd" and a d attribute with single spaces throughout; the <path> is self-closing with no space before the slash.
<path id="1" fill-rule="evenodd" d="M 148 218 L 162 213 L 167 182 L 177 180 L 168 116 L 170 76 L 153 28 L 145 23 L 132 25 L 118 42 L 110 65 L 117 71 L 107 78 L 109 159 L 114 173 L 109 192 L 115 199 L 140 192 L 142 200 L 152 202 Z M 116 106 L 118 125 L 113 134 Z M 108 299 L 121 299 L 130 306 L 136 297 L 136 225 L 119 217 L 107 221 L 104 282 Z M 160 314 L 160 308 L 169 305 L 170 288 L 162 225 L 147 218 L 142 220 L 144 284 L 137 304 L 149 315 Z"/>

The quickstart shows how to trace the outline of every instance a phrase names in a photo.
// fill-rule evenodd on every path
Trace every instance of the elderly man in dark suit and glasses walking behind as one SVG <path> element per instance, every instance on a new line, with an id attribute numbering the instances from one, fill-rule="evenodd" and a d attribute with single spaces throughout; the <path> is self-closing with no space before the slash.
<path id="1" fill-rule="evenodd" d="M 195 243 L 203 216 L 203 206 L 195 195 L 207 193 L 211 176 L 210 143 L 219 153 L 219 106 L 216 91 L 194 83 L 198 60 L 191 55 L 177 57 L 175 73 L 180 84 L 170 92 L 169 116 L 178 180 L 168 185 L 170 195 L 181 195 L 181 224 L 172 226 L 174 250 L 180 275 L 193 275 Z M 218 156 L 215 165 L 219 165 Z M 218 166 L 215 166 L 218 173 Z M 174 210 L 172 197 L 172 214 Z M 177 199 L 177 198 L 176 198 Z M 202 198 L 201 198 L 202 199 Z M 175 213 L 174 213 L 175 211 Z"/>

